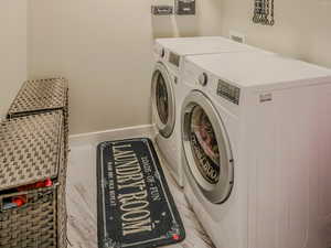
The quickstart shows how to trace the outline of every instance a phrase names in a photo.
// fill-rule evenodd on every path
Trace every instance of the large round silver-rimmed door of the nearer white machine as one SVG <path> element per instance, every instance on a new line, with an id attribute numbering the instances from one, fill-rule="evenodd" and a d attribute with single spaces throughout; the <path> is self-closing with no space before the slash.
<path id="1" fill-rule="evenodd" d="M 231 195 L 234 168 L 225 127 L 202 93 L 194 90 L 185 99 L 182 138 L 188 176 L 193 176 L 203 195 L 212 203 L 224 203 Z"/>

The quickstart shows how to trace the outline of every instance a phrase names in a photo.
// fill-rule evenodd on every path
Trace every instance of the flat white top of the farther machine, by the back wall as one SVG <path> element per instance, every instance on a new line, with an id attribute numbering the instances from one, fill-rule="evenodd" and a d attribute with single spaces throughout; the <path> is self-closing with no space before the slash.
<path id="1" fill-rule="evenodd" d="M 157 39 L 156 43 L 180 56 L 226 52 L 260 51 L 222 36 Z"/>

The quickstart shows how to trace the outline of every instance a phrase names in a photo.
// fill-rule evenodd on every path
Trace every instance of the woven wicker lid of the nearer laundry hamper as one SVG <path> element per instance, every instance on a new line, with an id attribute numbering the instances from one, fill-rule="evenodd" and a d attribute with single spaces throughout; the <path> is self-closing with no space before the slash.
<path id="1" fill-rule="evenodd" d="M 63 129 L 58 110 L 3 121 L 0 191 L 57 177 Z"/>

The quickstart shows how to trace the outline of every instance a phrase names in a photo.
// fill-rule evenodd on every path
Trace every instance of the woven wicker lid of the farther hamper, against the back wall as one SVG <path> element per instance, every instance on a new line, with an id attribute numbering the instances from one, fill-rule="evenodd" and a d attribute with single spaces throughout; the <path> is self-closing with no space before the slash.
<path id="1" fill-rule="evenodd" d="M 28 80 L 12 103 L 8 118 L 67 108 L 67 89 L 63 77 Z"/>

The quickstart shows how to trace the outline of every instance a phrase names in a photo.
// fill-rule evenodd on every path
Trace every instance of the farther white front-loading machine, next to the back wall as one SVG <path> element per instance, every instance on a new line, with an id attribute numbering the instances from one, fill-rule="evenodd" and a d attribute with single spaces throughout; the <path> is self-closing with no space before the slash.
<path id="1" fill-rule="evenodd" d="M 178 97 L 184 57 L 241 51 L 260 51 L 221 36 L 158 39 L 152 74 L 152 123 L 156 142 L 174 179 L 182 185 L 180 107 Z"/>

